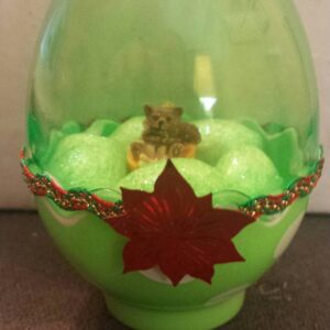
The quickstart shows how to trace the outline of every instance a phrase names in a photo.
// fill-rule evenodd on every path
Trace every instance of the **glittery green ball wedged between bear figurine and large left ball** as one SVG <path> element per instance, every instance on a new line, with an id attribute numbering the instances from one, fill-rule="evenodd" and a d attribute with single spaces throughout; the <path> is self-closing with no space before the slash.
<path id="1" fill-rule="evenodd" d="M 127 151 L 132 142 L 141 140 L 144 117 L 134 117 L 122 123 L 111 135 Z"/>

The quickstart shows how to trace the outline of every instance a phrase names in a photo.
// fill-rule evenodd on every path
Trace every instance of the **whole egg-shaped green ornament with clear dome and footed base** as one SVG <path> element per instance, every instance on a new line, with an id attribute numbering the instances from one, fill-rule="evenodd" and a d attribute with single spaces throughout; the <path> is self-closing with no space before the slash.
<path id="1" fill-rule="evenodd" d="M 54 0 L 26 123 L 46 229 L 134 329 L 232 319 L 322 167 L 292 0 Z"/>

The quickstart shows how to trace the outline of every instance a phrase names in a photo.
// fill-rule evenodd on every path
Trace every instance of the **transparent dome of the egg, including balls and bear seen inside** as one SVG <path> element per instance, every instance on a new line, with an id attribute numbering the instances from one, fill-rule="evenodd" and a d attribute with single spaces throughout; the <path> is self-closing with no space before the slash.
<path id="1" fill-rule="evenodd" d="M 319 157 L 292 1 L 54 1 L 28 151 L 65 188 L 151 190 L 175 158 L 197 195 L 280 193 Z"/>

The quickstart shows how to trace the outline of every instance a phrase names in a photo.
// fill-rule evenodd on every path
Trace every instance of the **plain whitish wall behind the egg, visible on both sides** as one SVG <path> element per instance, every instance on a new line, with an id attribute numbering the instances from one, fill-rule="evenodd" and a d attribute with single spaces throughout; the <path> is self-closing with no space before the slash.
<path id="1" fill-rule="evenodd" d="M 18 153 L 24 141 L 24 109 L 34 44 L 50 0 L 0 0 L 0 208 L 31 208 Z M 330 154 L 330 1 L 296 0 L 309 35 L 321 103 L 321 141 Z M 330 211 L 330 167 L 312 196 L 310 210 Z"/>

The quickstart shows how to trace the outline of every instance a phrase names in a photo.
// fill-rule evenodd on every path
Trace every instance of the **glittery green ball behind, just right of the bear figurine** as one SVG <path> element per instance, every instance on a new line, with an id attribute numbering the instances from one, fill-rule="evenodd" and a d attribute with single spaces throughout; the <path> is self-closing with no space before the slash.
<path id="1" fill-rule="evenodd" d="M 263 145 L 262 138 L 256 132 L 234 121 L 210 119 L 195 121 L 194 124 L 201 135 L 196 157 L 212 166 L 230 150 L 241 145 Z"/>

